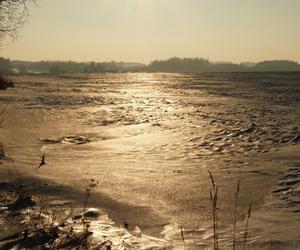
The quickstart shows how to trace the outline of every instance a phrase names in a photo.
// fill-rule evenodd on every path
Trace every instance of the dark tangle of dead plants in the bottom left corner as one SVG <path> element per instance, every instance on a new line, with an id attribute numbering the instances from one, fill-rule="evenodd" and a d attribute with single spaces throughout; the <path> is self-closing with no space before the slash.
<path id="1" fill-rule="evenodd" d="M 86 206 L 97 184 L 95 180 L 90 181 L 82 204 L 83 212 L 74 216 L 70 204 L 53 205 L 49 197 L 34 194 L 34 189 L 28 185 L 20 188 L 17 181 L 1 182 L 0 216 L 10 233 L 0 238 L 0 248 L 90 249 L 89 238 L 93 233 L 89 227 L 93 211 Z"/>

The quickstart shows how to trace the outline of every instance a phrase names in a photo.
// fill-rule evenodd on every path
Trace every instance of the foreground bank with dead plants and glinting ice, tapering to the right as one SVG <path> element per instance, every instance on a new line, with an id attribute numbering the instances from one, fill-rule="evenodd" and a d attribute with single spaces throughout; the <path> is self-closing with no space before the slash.
<path id="1" fill-rule="evenodd" d="M 91 181 L 90 188 L 93 184 Z M 125 222 L 118 226 L 108 215 L 87 207 L 88 193 L 83 207 L 78 207 L 74 200 L 45 194 L 50 189 L 63 191 L 44 183 L 33 194 L 32 183 L 20 186 L 20 179 L 0 182 L 1 249 L 171 248 L 167 240 L 147 236 L 138 227 L 130 230 Z"/>

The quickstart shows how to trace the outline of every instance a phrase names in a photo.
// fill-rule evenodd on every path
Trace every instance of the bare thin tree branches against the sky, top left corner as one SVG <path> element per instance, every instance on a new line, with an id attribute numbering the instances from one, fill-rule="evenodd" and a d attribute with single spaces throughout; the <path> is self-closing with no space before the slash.
<path id="1" fill-rule="evenodd" d="M 0 0 L 0 40 L 16 38 L 18 29 L 28 20 L 28 3 L 34 0 Z"/>

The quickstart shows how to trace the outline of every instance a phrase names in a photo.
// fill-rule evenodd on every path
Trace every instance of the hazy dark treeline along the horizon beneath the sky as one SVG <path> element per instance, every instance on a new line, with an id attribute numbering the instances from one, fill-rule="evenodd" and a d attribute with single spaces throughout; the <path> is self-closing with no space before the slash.
<path id="1" fill-rule="evenodd" d="M 0 73 L 100 73 L 100 72 L 256 72 L 300 71 L 300 64 L 289 60 L 258 63 L 211 62 L 203 58 L 155 60 L 149 65 L 126 62 L 10 61 L 0 57 Z"/>

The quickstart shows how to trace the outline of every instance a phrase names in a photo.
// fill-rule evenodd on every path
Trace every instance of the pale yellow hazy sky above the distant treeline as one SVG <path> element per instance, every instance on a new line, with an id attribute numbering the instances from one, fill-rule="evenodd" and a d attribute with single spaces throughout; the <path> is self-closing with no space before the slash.
<path id="1" fill-rule="evenodd" d="M 37 0 L 12 59 L 300 62 L 300 0 Z"/>

